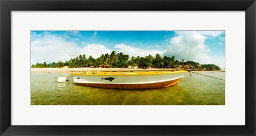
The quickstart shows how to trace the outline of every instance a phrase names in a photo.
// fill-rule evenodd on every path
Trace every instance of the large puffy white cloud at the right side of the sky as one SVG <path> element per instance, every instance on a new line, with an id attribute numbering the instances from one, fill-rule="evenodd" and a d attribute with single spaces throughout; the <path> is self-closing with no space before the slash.
<path id="1" fill-rule="evenodd" d="M 199 31 L 175 31 L 177 36 L 170 39 L 166 47 L 166 56 L 175 56 L 177 60 L 195 61 L 200 64 L 216 64 L 225 67 L 223 58 L 211 57 L 210 48 L 205 45 L 206 37 Z M 225 58 L 224 58 L 225 60 Z"/>

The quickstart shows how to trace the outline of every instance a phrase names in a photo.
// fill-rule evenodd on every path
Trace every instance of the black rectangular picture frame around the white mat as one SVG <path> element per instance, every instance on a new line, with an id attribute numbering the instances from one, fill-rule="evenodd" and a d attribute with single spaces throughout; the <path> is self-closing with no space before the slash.
<path id="1" fill-rule="evenodd" d="M 256 135 L 255 0 L 0 0 L 0 135 Z M 244 126 L 13 126 L 11 11 L 245 11 L 246 125 Z M 235 120 L 235 118 L 234 118 Z"/>

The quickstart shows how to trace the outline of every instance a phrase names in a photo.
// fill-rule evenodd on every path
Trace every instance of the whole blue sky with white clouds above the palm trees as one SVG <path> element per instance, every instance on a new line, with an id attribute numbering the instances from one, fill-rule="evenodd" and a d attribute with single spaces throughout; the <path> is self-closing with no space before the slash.
<path id="1" fill-rule="evenodd" d="M 225 69 L 225 31 L 31 31 L 31 64 L 97 58 L 112 50 L 130 58 L 174 55 Z"/>

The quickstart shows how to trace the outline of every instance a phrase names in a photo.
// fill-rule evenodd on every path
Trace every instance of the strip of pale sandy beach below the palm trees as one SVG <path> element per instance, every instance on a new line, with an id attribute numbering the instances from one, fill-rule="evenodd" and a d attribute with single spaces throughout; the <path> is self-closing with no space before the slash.
<path id="1" fill-rule="evenodd" d="M 177 69 L 130 69 L 130 68 L 31 68 L 31 72 L 88 72 L 88 71 L 177 71 Z M 197 71 L 197 70 L 190 70 Z M 225 72 L 221 70 L 202 70 L 202 71 L 217 71 Z"/>

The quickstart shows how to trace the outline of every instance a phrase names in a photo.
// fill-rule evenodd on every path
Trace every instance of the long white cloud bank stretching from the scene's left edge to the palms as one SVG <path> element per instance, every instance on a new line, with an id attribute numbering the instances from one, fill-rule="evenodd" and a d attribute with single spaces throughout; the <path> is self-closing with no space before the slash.
<path id="1" fill-rule="evenodd" d="M 33 37 L 33 38 L 32 38 Z M 33 39 L 33 40 L 32 40 Z M 42 34 L 31 33 L 31 64 L 65 62 L 70 58 L 85 54 L 94 58 L 101 54 L 111 53 L 103 45 L 90 44 L 85 47 L 78 47 L 74 41 L 68 41 L 65 35 L 44 32 Z"/>

